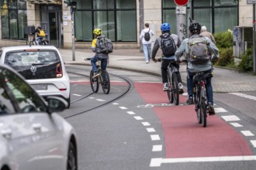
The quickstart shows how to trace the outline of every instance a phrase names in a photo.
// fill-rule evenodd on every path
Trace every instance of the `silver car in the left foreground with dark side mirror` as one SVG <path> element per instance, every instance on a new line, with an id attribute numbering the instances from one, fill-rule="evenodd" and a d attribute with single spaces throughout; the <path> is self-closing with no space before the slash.
<path id="1" fill-rule="evenodd" d="M 0 169 L 78 169 L 77 135 L 56 111 L 61 97 L 38 95 L 19 73 L 0 64 Z"/>

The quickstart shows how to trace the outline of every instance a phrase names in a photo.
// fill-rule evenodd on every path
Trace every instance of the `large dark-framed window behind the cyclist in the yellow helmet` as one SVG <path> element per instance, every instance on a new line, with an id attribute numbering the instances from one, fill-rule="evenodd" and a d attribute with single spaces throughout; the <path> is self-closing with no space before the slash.
<path id="1" fill-rule="evenodd" d="M 78 0 L 74 12 L 77 41 L 92 41 L 93 29 L 112 41 L 137 42 L 136 0 Z"/>

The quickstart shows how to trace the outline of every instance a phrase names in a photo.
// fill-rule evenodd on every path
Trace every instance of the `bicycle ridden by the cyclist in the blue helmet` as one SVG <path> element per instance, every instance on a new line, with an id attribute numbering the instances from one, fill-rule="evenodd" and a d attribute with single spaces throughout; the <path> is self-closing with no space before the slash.
<path id="1" fill-rule="evenodd" d="M 158 61 L 161 61 L 162 59 L 158 59 Z M 179 89 L 178 89 L 178 76 L 177 72 L 178 69 L 176 66 L 174 66 L 174 63 L 176 63 L 175 59 L 171 59 L 168 67 L 167 67 L 167 77 L 168 77 L 168 87 L 169 90 L 167 90 L 168 100 L 172 104 L 175 105 L 179 104 Z"/>

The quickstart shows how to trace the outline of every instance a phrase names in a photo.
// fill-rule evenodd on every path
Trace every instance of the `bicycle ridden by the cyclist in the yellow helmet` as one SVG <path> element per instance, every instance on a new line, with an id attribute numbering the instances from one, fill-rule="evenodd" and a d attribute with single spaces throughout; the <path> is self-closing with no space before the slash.
<path id="1" fill-rule="evenodd" d="M 85 60 L 91 60 L 91 59 L 92 58 L 86 58 Z M 91 73 L 90 73 L 90 84 L 92 87 L 92 91 L 93 93 L 97 93 L 99 91 L 99 84 L 100 84 L 102 86 L 103 93 L 108 94 L 110 91 L 109 73 L 107 72 L 107 70 L 102 70 L 101 61 L 99 59 L 96 62 L 96 66 L 98 68 L 98 73 L 95 75 L 93 70 L 91 70 Z"/>

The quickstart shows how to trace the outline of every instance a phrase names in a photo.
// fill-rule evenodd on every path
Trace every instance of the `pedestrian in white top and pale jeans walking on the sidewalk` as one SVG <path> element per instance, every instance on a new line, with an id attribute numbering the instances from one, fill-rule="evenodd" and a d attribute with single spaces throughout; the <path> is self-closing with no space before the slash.
<path id="1" fill-rule="evenodd" d="M 143 45 L 145 62 L 148 63 L 150 61 L 151 54 L 151 37 L 154 36 L 153 31 L 149 27 L 149 23 L 145 23 L 145 29 L 140 32 L 140 41 Z"/>

